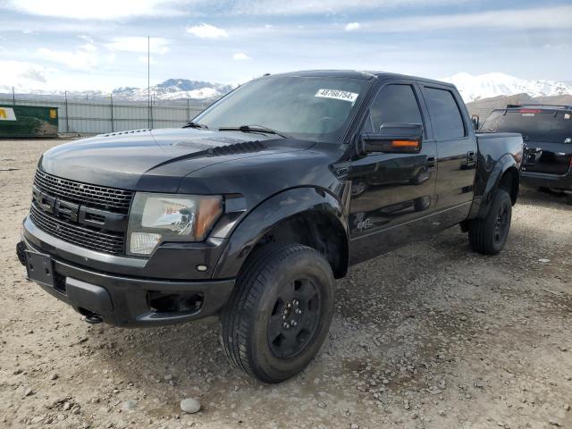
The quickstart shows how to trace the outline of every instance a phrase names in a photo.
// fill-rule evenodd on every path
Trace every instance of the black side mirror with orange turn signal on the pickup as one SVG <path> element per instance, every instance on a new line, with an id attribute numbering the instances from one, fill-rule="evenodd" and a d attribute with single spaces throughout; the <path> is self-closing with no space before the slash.
<path id="1" fill-rule="evenodd" d="M 422 140 L 423 125 L 420 123 L 383 123 L 379 132 L 361 135 L 359 149 L 365 154 L 417 154 Z"/>

